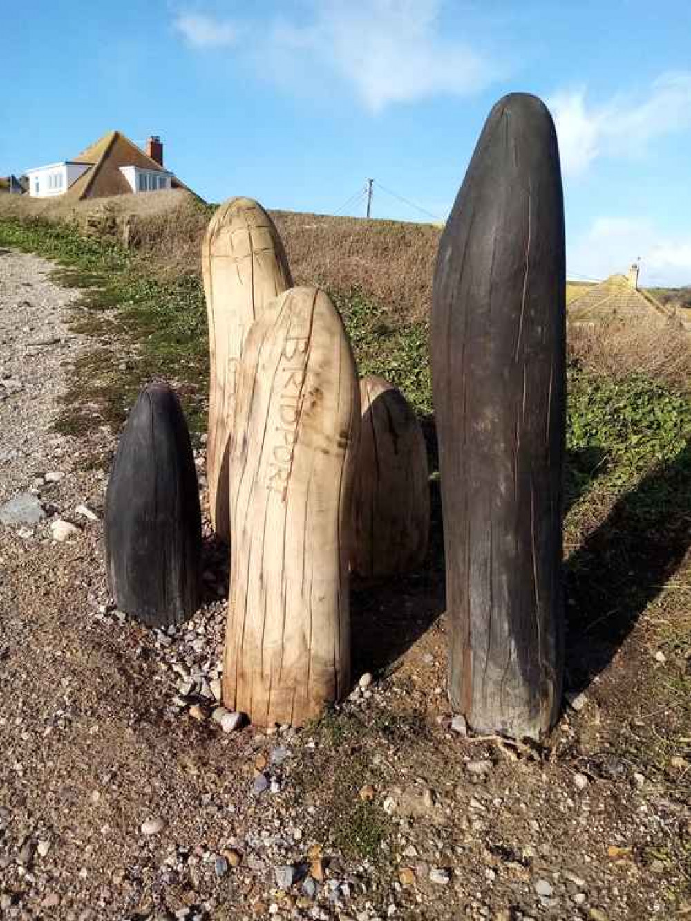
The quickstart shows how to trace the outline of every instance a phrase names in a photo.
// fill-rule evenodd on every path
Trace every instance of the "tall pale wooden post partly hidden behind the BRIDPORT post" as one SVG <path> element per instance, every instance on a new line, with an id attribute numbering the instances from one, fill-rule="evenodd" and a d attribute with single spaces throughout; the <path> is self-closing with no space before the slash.
<path id="1" fill-rule="evenodd" d="M 228 539 L 228 449 L 237 363 L 250 325 L 293 285 L 271 217 L 251 198 L 231 198 L 215 212 L 202 244 L 209 318 L 209 428 L 206 469 L 213 528 Z"/>

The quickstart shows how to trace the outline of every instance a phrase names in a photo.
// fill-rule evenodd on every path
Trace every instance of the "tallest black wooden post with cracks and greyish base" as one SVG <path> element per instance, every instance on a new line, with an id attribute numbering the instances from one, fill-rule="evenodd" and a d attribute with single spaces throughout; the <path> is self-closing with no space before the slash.
<path id="1" fill-rule="evenodd" d="M 432 299 L 450 698 L 473 729 L 537 737 L 561 697 L 565 261 L 543 103 L 489 114 Z"/>

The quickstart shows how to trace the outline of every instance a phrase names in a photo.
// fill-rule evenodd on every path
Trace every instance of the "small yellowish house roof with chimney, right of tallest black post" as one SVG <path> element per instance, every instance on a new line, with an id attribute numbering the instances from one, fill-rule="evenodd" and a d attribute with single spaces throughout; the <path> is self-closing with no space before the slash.
<path id="1" fill-rule="evenodd" d="M 610 275 L 599 285 L 588 288 L 569 304 L 571 323 L 641 321 L 665 326 L 675 321 L 675 311 L 639 288 L 639 264 L 634 262 L 628 275 Z"/>

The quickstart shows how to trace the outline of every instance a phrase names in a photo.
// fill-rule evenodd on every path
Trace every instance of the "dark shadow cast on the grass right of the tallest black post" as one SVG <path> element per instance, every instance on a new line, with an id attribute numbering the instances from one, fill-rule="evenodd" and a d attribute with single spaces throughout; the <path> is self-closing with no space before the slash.
<path id="1" fill-rule="evenodd" d="M 691 447 L 649 473 L 566 564 L 569 685 L 611 662 L 691 546 Z"/>

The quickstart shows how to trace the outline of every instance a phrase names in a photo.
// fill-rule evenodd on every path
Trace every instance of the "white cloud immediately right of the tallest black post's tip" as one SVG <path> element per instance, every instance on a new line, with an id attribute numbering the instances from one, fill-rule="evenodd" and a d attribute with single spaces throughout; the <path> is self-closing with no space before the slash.
<path id="1" fill-rule="evenodd" d="M 590 105 L 584 87 L 561 90 L 549 100 L 566 175 L 585 172 L 597 157 L 639 156 L 651 141 L 691 126 L 691 72 L 655 80 L 643 98 L 617 95 Z"/>

